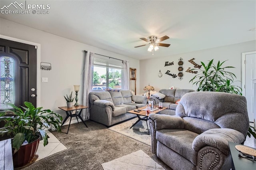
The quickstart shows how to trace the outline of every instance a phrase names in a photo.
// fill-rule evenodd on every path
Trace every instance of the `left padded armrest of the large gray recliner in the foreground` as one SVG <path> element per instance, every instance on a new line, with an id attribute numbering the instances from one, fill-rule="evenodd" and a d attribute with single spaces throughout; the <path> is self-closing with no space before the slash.
<path id="1" fill-rule="evenodd" d="M 183 129 L 184 121 L 179 116 L 150 114 L 149 119 L 154 121 L 156 130 L 160 129 Z"/>

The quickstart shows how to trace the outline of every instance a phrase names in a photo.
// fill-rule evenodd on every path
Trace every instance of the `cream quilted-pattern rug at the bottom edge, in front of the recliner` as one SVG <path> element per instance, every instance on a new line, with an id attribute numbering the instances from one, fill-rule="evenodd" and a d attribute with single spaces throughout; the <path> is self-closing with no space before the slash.
<path id="1" fill-rule="evenodd" d="M 142 150 L 102 164 L 104 170 L 164 170 Z"/>

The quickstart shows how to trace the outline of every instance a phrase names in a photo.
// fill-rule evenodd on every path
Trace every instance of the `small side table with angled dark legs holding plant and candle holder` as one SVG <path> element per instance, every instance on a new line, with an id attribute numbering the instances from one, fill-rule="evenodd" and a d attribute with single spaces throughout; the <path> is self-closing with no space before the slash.
<path id="1" fill-rule="evenodd" d="M 84 120 L 83 120 L 82 117 L 81 117 L 81 113 L 82 113 L 82 110 L 83 110 L 83 109 L 86 109 L 86 108 L 89 108 L 89 107 L 83 106 L 83 105 L 79 105 L 79 106 L 72 106 L 72 107 L 66 107 L 66 106 L 64 106 L 64 107 L 58 107 L 58 108 L 61 109 L 61 110 L 63 110 L 63 111 L 66 111 L 66 114 L 67 114 L 66 118 L 64 119 L 64 121 L 62 122 L 62 124 L 61 124 L 60 127 L 62 127 L 62 125 L 63 125 L 63 124 L 68 120 L 68 118 L 70 117 L 70 121 L 69 121 L 69 125 L 68 125 L 68 130 L 69 130 L 72 117 L 76 117 L 77 122 L 78 122 L 78 118 L 77 118 L 77 117 L 79 117 L 79 119 L 81 119 L 82 123 L 84 123 L 84 125 L 88 128 L 88 126 L 86 125 L 86 123 L 84 122 Z M 72 114 L 73 111 L 77 111 L 77 110 L 80 110 L 80 112 L 79 112 L 78 114 L 76 114 L 76 113 L 75 113 L 75 114 Z M 78 122 L 78 123 L 79 123 L 79 122 Z M 68 134 L 68 132 L 67 132 L 67 134 Z"/>

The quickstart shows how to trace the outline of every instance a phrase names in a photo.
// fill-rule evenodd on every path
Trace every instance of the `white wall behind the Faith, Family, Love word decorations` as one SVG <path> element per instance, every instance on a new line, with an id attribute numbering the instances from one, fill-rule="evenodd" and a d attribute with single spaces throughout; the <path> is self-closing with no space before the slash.
<path id="1" fill-rule="evenodd" d="M 172 48 L 170 46 L 169 48 Z M 161 49 L 159 49 L 161 50 Z M 157 59 L 145 59 L 140 60 L 140 88 L 138 94 L 144 93 L 143 88 L 150 83 L 155 88 L 155 92 L 160 89 L 168 89 L 170 86 L 179 87 L 180 89 L 194 89 L 197 87 L 189 83 L 189 81 L 196 75 L 194 73 L 185 72 L 188 67 L 194 68 L 188 60 L 195 58 L 194 61 L 200 64 L 200 61 L 208 63 L 211 59 L 214 59 L 214 63 L 220 61 L 228 60 L 224 63 L 224 66 L 233 66 L 236 68 L 228 69 L 234 73 L 238 81 L 242 81 L 242 53 L 248 51 L 256 50 L 256 41 L 238 43 L 233 45 L 226 45 L 222 47 L 216 47 L 211 49 L 204 49 L 200 51 L 193 51 L 190 53 L 183 53 L 178 55 L 170 55 L 165 58 Z M 157 51 L 156 51 L 157 52 Z M 178 75 L 178 59 L 183 58 L 183 79 L 180 81 L 178 76 L 172 78 L 170 75 L 165 74 L 167 70 L 170 70 L 170 73 L 175 73 Z M 172 62 L 174 65 L 166 66 L 165 61 Z M 161 70 L 163 76 L 158 77 L 159 70 Z M 241 82 L 236 82 L 235 85 L 241 87 Z M 150 93 L 153 94 L 154 92 Z"/>

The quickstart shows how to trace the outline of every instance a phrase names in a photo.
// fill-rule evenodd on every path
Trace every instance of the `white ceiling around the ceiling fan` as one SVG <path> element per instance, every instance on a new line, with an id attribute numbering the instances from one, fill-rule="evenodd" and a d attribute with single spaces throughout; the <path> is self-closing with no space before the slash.
<path id="1" fill-rule="evenodd" d="M 1 0 L 0 6 L 15 0 Z M 25 2 L 25 1 L 18 1 Z M 255 0 L 30 1 L 50 4 L 50 14 L 0 14 L 1 18 L 135 59 L 167 57 L 256 40 Z M 152 56 L 139 38 L 169 36 Z"/>

